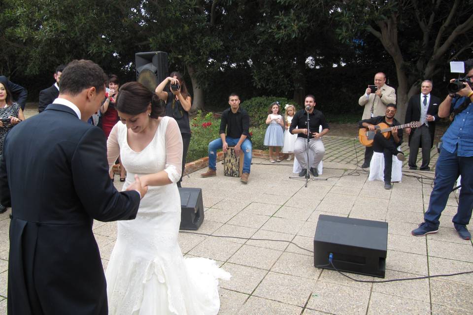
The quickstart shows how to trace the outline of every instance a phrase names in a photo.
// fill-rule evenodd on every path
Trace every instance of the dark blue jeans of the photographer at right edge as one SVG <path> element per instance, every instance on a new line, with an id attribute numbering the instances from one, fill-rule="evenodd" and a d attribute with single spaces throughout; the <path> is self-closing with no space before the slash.
<path id="1" fill-rule="evenodd" d="M 457 214 L 452 222 L 467 225 L 473 208 L 473 157 L 459 157 L 457 151 L 440 151 L 435 167 L 434 189 L 430 195 L 429 208 L 424 220 L 432 226 L 439 226 L 440 215 L 447 204 L 448 195 L 453 189 L 458 175 L 462 175 Z"/>

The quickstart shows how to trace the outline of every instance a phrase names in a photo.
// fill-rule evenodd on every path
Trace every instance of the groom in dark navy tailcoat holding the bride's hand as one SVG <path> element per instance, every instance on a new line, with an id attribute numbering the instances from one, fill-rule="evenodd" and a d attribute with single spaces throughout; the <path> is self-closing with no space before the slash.
<path id="1" fill-rule="evenodd" d="M 108 313 L 93 219 L 135 219 L 147 187 L 136 176 L 130 191 L 114 188 L 103 132 L 86 123 L 105 98 L 106 81 L 97 64 L 72 61 L 56 102 L 5 139 L 0 201 L 12 207 L 9 315 Z"/>

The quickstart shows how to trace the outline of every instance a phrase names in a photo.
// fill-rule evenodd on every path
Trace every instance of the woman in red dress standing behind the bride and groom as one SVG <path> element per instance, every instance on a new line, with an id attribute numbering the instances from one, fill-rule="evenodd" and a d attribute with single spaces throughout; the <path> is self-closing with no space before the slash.
<path id="1" fill-rule="evenodd" d="M 108 91 L 108 96 L 103 102 L 102 106 L 100 107 L 100 113 L 101 113 L 101 126 L 103 133 L 105 133 L 105 137 L 108 139 L 108 135 L 110 134 L 110 131 L 112 130 L 113 126 L 115 126 L 116 123 L 120 121 L 120 118 L 118 117 L 118 112 L 115 109 L 115 101 L 118 96 L 118 88 L 120 87 L 120 81 L 118 80 L 118 77 L 115 74 L 111 74 L 108 78 L 108 88 L 110 91 Z M 125 168 L 123 167 L 120 157 L 118 158 L 119 165 L 120 165 L 120 182 L 125 182 L 125 176 L 126 176 L 126 171 Z M 113 170 L 110 171 L 110 178 L 113 181 Z"/>

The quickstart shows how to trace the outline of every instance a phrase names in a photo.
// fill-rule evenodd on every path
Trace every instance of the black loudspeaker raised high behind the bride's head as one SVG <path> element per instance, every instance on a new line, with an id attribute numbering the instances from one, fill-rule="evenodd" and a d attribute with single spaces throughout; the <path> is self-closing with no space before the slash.
<path id="1" fill-rule="evenodd" d="M 135 54 L 136 81 L 154 93 L 168 77 L 168 53 L 153 51 Z"/>

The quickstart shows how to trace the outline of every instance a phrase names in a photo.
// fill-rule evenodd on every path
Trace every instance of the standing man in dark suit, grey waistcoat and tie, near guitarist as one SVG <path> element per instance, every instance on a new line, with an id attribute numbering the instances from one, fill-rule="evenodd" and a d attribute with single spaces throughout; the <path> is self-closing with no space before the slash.
<path id="1" fill-rule="evenodd" d="M 424 80 L 421 85 L 421 94 L 413 95 L 409 99 L 405 113 L 405 124 L 411 121 L 420 121 L 423 125 L 417 129 L 405 128 L 409 135 L 409 169 L 417 169 L 417 153 L 422 147 L 421 171 L 430 171 L 430 149 L 434 146 L 435 124 L 439 120 L 440 99 L 432 95 L 432 81 Z"/>

